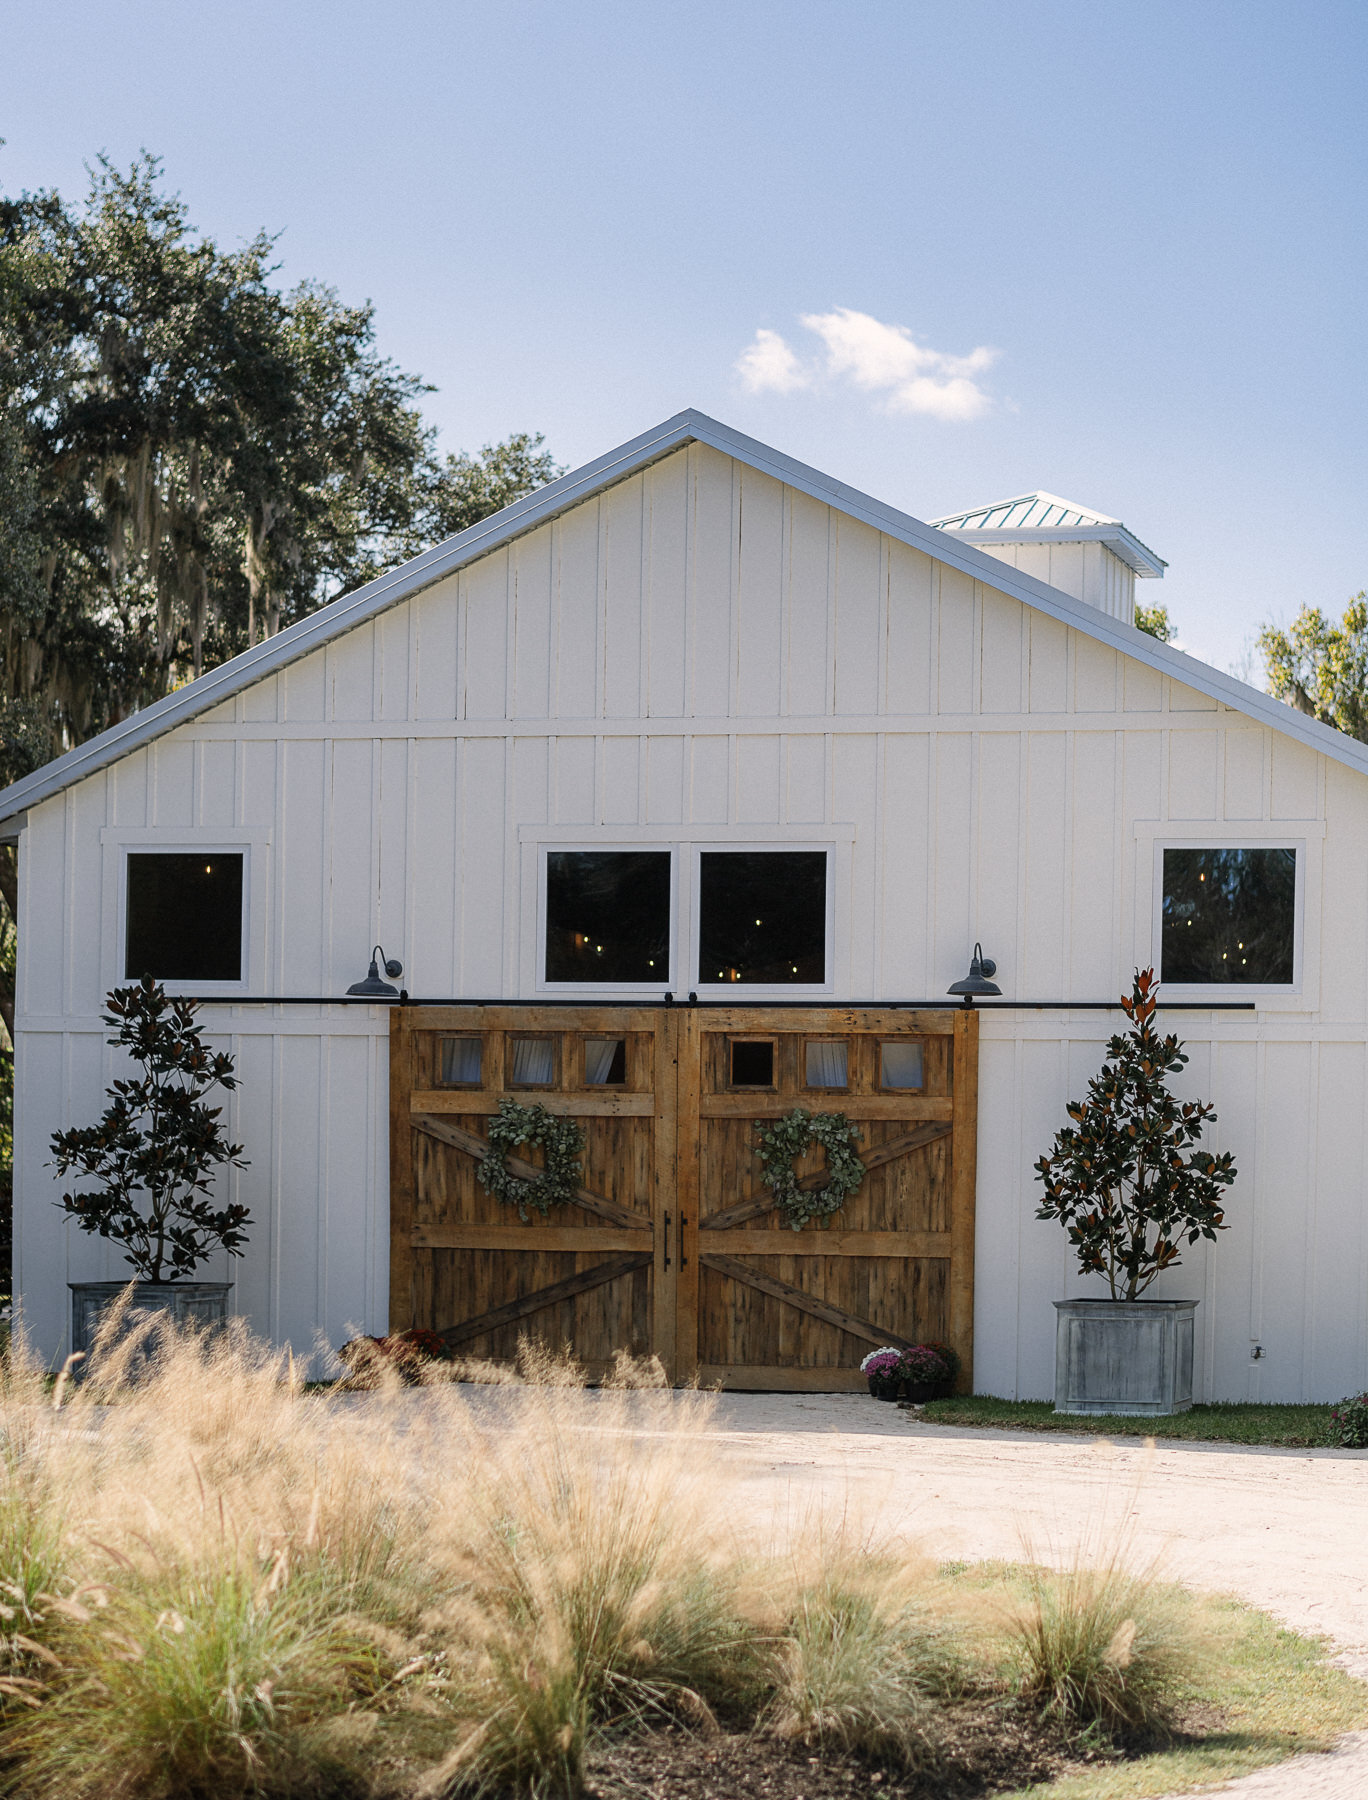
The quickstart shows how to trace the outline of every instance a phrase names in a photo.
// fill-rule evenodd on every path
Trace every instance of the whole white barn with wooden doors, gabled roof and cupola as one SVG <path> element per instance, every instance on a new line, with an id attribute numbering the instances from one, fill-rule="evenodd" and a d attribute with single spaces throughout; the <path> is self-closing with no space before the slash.
<path id="1" fill-rule="evenodd" d="M 239 1064 L 254 1229 L 211 1273 L 272 1339 L 544 1328 L 821 1388 L 887 1330 L 1048 1395 L 1087 1289 L 1031 1165 L 1154 963 L 1240 1170 L 1159 1289 L 1202 1300 L 1197 1397 L 1368 1386 L 1368 747 L 1139 634 L 1161 572 L 1053 495 L 929 526 L 684 412 L 0 794 L 41 1350 L 68 1282 L 122 1273 L 47 1145 L 148 963 Z M 238 886 L 207 961 L 158 965 L 200 860 Z M 1166 907 L 1208 868 L 1233 898 L 1184 963 Z M 976 941 L 1003 1003 L 936 1010 Z M 407 1004 L 346 999 L 376 943 Z M 524 1089 L 590 1139 L 583 1206 L 531 1224 L 470 1154 Z M 821 1237 L 747 1202 L 794 1103 L 880 1152 Z"/>

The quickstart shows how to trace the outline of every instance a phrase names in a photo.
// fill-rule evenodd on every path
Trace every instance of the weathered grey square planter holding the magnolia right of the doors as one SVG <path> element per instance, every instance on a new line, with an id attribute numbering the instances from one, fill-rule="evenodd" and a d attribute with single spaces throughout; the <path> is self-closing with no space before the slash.
<path id="1" fill-rule="evenodd" d="M 1195 1310 L 1195 1300 L 1057 1300 L 1055 1411 L 1186 1413 Z"/>

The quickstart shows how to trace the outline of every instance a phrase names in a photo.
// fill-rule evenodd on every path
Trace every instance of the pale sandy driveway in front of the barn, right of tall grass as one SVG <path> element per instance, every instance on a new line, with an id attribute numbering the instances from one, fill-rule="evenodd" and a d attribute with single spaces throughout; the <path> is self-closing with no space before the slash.
<path id="1" fill-rule="evenodd" d="M 716 1440 L 756 1516 L 877 1505 L 941 1559 L 1067 1555 L 1121 1525 L 1195 1588 L 1325 1633 L 1368 1679 L 1368 1451 L 1274 1451 L 923 1426 L 862 1395 L 724 1395 Z M 1368 1800 L 1368 1733 L 1222 1789 Z"/>

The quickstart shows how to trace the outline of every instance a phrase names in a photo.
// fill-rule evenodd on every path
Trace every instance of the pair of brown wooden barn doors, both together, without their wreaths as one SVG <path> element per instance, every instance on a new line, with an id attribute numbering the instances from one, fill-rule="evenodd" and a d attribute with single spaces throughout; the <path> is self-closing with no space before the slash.
<path id="1" fill-rule="evenodd" d="M 733 1388 L 855 1390 L 866 1350 L 927 1339 L 970 1370 L 976 1013 L 394 1008 L 391 1031 L 391 1330 L 508 1361 L 569 1343 L 590 1373 L 653 1354 Z M 504 1154 L 524 1217 L 481 1181 L 508 1100 L 578 1143 L 545 1210 L 545 1138 Z M 862 1163 L 799 1231 L 758 1156 L 796 1109 L 844 1118 Z M 819 1143 L 794 1175 L 823 1193 Z"/>

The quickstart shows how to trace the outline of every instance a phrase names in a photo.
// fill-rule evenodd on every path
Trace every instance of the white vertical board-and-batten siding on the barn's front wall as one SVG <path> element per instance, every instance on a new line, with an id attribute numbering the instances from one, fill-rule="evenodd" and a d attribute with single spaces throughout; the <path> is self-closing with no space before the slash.
<path id="1" fill-rule="evenodd" d="M 1114 997 L 1157 952 L 1156 842 L 1303 844 L 1301 994 L 1170 1015 L 1240 1181 L 1231 1229 L 1161 1292 L 1202 1296 L 1201 1393 L 1368 1384 L 1368 783 L 700 445 L 29 814 L 16 1264 L 43 1354 L 65 1283 L 122 1267 L 65 1226 L 45 1168 L 113 1073 L 121 848 L 248 846 L 250 992 L 340 994 L 380 941 L 414 994 L 533 997 L 538 830 L 846 844 L 835 997 L 855 1001 L 941 995 L 976 940 L 1008 995 Z M 207 1021 L 239 1058 L 250 1168 L 229 1184 L 257 1220 L 214 1273 L 297 1348 L 383 1330 L 385 1008 Z M 1051 1391 L 1051 1301 L 1080 1283 L 1031 1165 L 1118 1022 L 983 1019 L 981 1391 Z"/>

